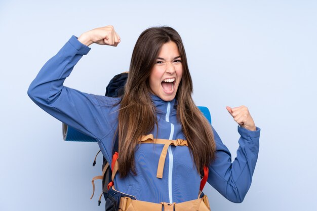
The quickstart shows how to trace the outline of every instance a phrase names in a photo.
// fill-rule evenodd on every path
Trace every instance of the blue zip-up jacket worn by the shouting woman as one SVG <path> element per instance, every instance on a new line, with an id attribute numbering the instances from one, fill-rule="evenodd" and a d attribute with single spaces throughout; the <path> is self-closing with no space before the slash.
<path id="1" fill-rule="evenodd" d="M 119 98 L 82 93 L 63 86 L 74 65 L 90 51 L 72 36 L 32 81 L 29 97 L 42 109 L 76 130 L 98 140 L 102 154 L 111 163 L 113 137 L 117 128 Z M 186 139 L 176 118 L 176 100 L 165 102 L 152 95 L 157 108 L 159 139 Z M 209 166 L 208 182 L 224 197 L 242 202 L 252 180 L 259 151 L 260 129 L 248 131 L 238 126 L 241 135 L 237 157 L 231 155 L 213 129 L 217 145 L 216 160 Z M 137 176 L 115 177 L 114 187 L 121 192 L 149 202 L 183 202 L 196 199 L 200 174 L 196 171 L 188 147 L 169 146 L 163 178 L 156 178 L 163 145 L 141 144 L 135 151 Z"/>

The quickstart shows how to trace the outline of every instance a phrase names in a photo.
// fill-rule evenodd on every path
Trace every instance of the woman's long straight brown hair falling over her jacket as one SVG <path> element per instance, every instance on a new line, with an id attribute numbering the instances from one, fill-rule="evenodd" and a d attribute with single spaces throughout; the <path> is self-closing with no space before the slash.
<path id="1" fill-rule="evenodd" d="M 139 143 L 138 138 L 147 135 L 155 125 L 158 129 L 148 78 L 161 47 L 169 41 L 176 43 L 181 56 L 183 75 L 176 94 L 177 118 L 182 125 L 197 171 L 201 172 L 215 157 L 216 145 L 211 126 L 191 98 L 192 80 L 181 37 L 171 27 L 152 27 L 143 31 L 135 44 L 118 115 L 121 177 L 126 177 L 130 171 L 136 174 L 134 153 Z"/>

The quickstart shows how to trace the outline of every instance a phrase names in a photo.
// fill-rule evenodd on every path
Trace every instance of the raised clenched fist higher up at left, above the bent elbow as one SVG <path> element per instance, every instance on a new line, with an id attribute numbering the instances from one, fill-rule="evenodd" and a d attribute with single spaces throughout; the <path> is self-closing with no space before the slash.
<path id="1" fill-rule="evenodd" d="M 92 29 L 78 37 L 78 41 L 86 46 L 96 43 L 115 47 L 120 43 L 120 40 L 120 36 L 111 25 Z"/>

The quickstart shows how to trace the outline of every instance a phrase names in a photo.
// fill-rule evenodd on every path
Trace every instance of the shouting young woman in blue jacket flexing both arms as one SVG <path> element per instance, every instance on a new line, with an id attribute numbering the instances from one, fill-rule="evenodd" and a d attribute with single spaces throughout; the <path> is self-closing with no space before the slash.
<path id="1" fill-rule="evenodd" d="M 54 117 L 96 138 L 109 163 L 118 137 L 120 174 L 114 187 L 137 199 L 128 201 L 127 210 L 209 210 L 206 197 L 197 199 L 202 197 L 200 173 L 206 166 L 208 182 L 230 201 L 242 202 L 258 157 L 260 129 L 247 107 L 227 107 L 241 135 L 231 162 L 230 152 L 191 98 L 184 46 L 173 28 L 142 32 L 122 98 L 63 86 L 74 65 L 90 51 L 88 46 L 117 46 L 120 40 L 113 26 L 72 36 L 39 71 L 28 95 Z"/>

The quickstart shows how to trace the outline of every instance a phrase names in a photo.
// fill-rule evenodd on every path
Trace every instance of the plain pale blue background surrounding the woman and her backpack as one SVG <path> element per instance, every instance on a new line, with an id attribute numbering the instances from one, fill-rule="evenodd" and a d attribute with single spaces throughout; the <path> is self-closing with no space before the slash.
<path id="1" fill-rule="evenodd" d="M 27 96 L 37 72 L 72 34 L 112 24 L 118 47 L 92 45 L 65 86 L 104 95 L 129 68 L 139 34 L 169 25 L 182 36 L 194 83 L 235 156 L 225 106 L 246 105 L 261 131 L 241 204 L 206 186 L 211 210 L 317 210 L 316 1 L 1 1 L 0 210 L 104 210 L 90 200 L 97 144 L 62 139 L 61 122 Z M 97 182 L 96 195 L 101 191 Z"/>

